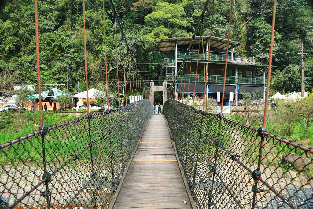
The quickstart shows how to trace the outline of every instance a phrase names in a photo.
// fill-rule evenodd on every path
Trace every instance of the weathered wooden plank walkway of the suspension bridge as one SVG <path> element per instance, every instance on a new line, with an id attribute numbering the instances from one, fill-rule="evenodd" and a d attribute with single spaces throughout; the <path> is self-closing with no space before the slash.
<path id="1" fill-rule="evenodd" d="M 191 208 L 163 115 L 149 119 L 113 208 Z"/>

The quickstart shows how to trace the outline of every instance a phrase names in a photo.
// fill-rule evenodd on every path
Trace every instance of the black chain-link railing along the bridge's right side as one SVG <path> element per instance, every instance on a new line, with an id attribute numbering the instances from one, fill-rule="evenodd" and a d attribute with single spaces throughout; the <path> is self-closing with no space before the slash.
<path id="1" fill-rule="evenodd" d="M 167 100 L 163 114 L 198 209 L 313 208 L 313 149 Z"/>

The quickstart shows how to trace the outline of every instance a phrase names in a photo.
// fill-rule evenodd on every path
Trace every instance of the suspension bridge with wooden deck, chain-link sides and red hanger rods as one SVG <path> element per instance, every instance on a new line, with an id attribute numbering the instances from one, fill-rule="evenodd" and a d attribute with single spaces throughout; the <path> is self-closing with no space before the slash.
<path id="1" fill-rule="evenodd" d="M 182 63 L 188 63 L 188 52 L 193 49 L 198 32 L 201 34 L 198 40 L 203 39 L 202 23 L 209 2 L 208 0 L 204 6 Z M 89 112 L 85 40 L 89 113 L 71 121 L 45 126 L 40 108 L 38 13 L 35 0 L 41 126 L 33 133 L 1 144 L 0 206 L 10 209 L 313 208 L 310 172 L 313 170 L 313 149 L 268 133 L 265 128 L 276 0 L 264 121 L 260 128 L 223 116 L 228 56 L 219 114 L 197 110 L 171 99 L 177 98 L 176 84 L 187 83 L 186 76 L 184 81 L 179 76 L 184 67 L 187 69 L 187 64 L 183 64 L 172 84 L 163 86 L 163 114 L 154 115 L 154 86 L 152 83 L 147 86 L 141 79 L 111 0 L 110 4 L 114 13 L 115 33 L 118 26 L 123 46 L 126 46 L 126 50 L 123 50 L 126 51 L 124 62 L 126 57 L 129 62 L 120 70 L 121 75 L 118 75 L 117 57 L 117 89 L 130 91 L 131 95 L 142 96 L 142 99 L 127 104 L 127 99 L 123 101 L 119 98 L 120 107 L 116 109 L 92 114 Z M 211 8 L 213 6 L 214 1 Z M 83 8 L 85 29 L 84 1 Z M 230 9 L 229 29 L 231 11 Z M 104 3 L 103 12 L 105 14 Z M 228 44 L 229 33 L 226 54 Z M 200 44 L 198 47 L 200 48 Z M 106 61 L 105 56 L 105 63 Z M 199 50 L 197 64 L 198 62 Z M 107 65 L 105 67 L 107 70 Z M 208 67 L 204 70 L 207 75 Z M 129 86 L 126 86 L 126 82 Z M 197 79 L 194 82 L 195 86 Z M 124 83 L 123 89 L 119 86 L 121 83 Z M 182 86 L 180 85 L 181 88 Z M 109 107 L 108 92 L 106 95 Z M 203 110 L 207 99 L 204 94 Z"/>

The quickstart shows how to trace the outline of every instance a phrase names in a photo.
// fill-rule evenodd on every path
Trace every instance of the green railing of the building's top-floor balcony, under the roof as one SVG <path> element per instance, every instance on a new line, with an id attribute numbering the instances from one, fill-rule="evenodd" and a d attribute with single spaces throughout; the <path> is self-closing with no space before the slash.
<path id="1" fill-rule="evenodd" d="M 178 50 L 177 51 L 177 59 L 184 59 L 185 55 L 186 55 L 187 51 L 186 50 Z M 209 55 L 210 59 L 212 61 L 226 61 L 226 53 L 223 52 L 210 52 Z M 189 52 L 189 55 L 187 57 L 188 60 L 198 60 L 198 52 Z M 208 59 L 208 54 L 206 52 L 204 52 L 204 60 Z M 232 55 L 228 55 L 228 61 L 232 60 Z M 199 60 L 203 60 L 203 52 L 200 51 L 199 52 Z"/>

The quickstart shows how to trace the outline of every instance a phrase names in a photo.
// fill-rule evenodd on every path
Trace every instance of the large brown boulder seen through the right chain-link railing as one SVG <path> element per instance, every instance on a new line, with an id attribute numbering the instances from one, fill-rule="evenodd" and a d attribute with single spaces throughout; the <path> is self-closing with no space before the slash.
<path id="1" fill-rule="evenodd" d="M 281 162 L 284 165 L 290 164 L 296 171 L 309 169 L 310 160 L 297 154 L 283 154 Z M 306 166 L 306 167 L 305 167 Z"/>

